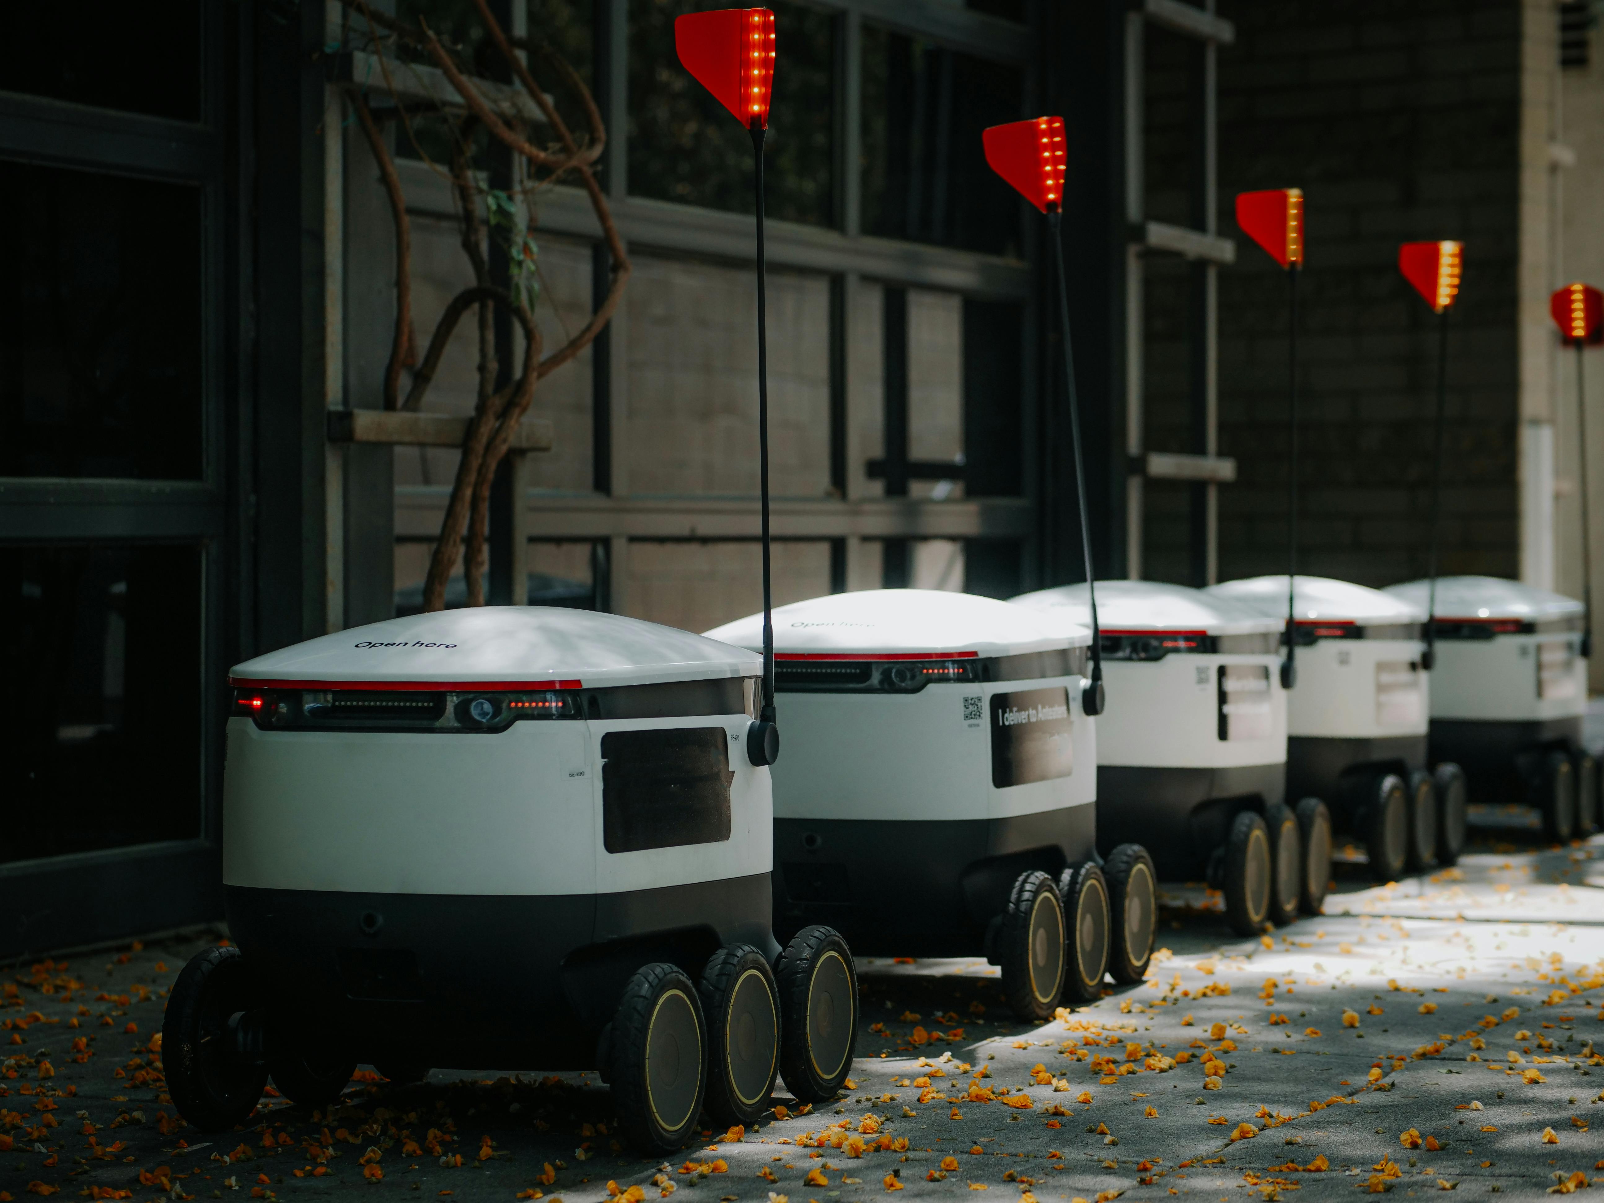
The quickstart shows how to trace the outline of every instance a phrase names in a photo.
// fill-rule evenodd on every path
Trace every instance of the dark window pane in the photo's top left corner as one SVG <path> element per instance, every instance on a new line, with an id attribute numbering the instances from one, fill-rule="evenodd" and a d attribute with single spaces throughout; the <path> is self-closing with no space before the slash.
<path id="1" fill-rule="evenodd" d="M 0 91 L 200 119 L 200 0 L 10 3 Z"/>

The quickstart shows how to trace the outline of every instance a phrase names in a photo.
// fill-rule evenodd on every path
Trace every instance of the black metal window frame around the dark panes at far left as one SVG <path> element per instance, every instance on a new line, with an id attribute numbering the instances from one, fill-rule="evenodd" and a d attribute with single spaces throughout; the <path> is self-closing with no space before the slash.
<path id="1" fill-rule="evenodd" d="M 200 5 L 200 119 L 148 117 L 117 109 L 0 91 L 0 159 L 188 184 L 200 196 L 200 422 L 199 480 L 0 476 L 0 544 L 130 545 L 184 544 L 200 549 L 200 815 L 197 836 L 0 865 L 0 906 L 37 916 L 3 942 L 0 953 L 114 938 L 220 914 L 218 836 L 221 820 L 225 656 L 234 645 L 229 566 L 244 529 L 234 481 L 249 428 L 241 401 L 241 295 L 249 263 L 241 253 L 241 205 L 249 189 L 231 188 L 241 170 L 234 128 L 241 124 L 231 79 L 242 63 L 245 18 L 226 5 Z M 247 69 L 249 75 L 249 69 Z M 51 900 L 40 908 L 37 900 Z"/>

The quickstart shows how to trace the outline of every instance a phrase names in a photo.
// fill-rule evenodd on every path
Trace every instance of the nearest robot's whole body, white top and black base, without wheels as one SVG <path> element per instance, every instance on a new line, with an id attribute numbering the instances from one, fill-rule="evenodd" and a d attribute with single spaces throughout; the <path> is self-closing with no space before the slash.
<path id="1" fill-rule="evenodd" d="M 778 953 L 770 770 L 744 752 L 760 672 L 688 632 L 537 606 L 237 666 L 236 943 L 364 1060 L 438 1030 L 438 1065 L 593 1063 L 630 950 Z"/>

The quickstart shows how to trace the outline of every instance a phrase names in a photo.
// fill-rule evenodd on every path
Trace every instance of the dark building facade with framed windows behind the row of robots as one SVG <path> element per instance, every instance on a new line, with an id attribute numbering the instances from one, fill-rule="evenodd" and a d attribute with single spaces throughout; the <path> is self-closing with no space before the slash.
<path id="1" fill-rule="evenodd" d="M 492 6 L 589 82 L 634 276 L 536 393 L 549 449 L 497 486 L 491 598 L 693 630 L 751 613 L 751 151 L 672 55 L 672 18 L 715 5 Z M 374 10 L 451 32 L 470 5 Z M 32 6 L 11 32 L 38 53 L 0 69 L 0 956 L 220 913 L 228 666 L 415 608 L 456 470 L 448 446 L 353 436 L 395 324 L 395 221 L 353 112 L 385 101 L 382 40 L 318 0 L 120 11 Z M 1580 589 L 1574 356 L 1545 314 L 1559 282 L 1604 279 L 1585 5 L 775 11 L 778 602 L 1081 577 L 1044 229 L 980 156 L 982 128 L 1039 112 L 1071 141 L 1100 576 L 1283 566 L 1283 281 L 1233 237 L 1230 197 L 1296 184 L 1307 571 L 1423 569 L 1431 329 L 1394 255 L 1461 237 L 1444 566 Z M 436 144 L 395 125 L 427 338 L 472 273 Z M 577 189 L 533 205 L 553 342 L 593 311 L 606 257 Z M 1588 390 L 1599 448 L 1604 367 Z M 423 411 L 473 398 L 464 324 Z"/>

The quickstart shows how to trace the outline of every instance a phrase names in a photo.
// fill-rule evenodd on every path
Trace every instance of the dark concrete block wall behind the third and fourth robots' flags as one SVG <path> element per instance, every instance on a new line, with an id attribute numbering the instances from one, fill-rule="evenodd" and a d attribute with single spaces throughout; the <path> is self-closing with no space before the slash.
<path id="1" fill-rule="evenodd" d="M 1301 186 L 1304 502 L 1301 568 L 1371 585 L 1420 576 L 1436 388 L 1436 318 L 1397 244 L 1456 237 L 1442 571 L 1519 571 L 1521 5 L 1516 0 L 1222 0 L 1219 51 L 1221 579 L 1286 563 L 1286 279 L 1235 226 L 1233 197 Z M 1185 218 L 1184 50 L 1148 64 L 1148 213 Z M 1148 446 L 1184 449 L 1184 273 L 1148 277 Z M 1184 579 L 1185 496 L 1155 489 L 1148 558 Z"/>

